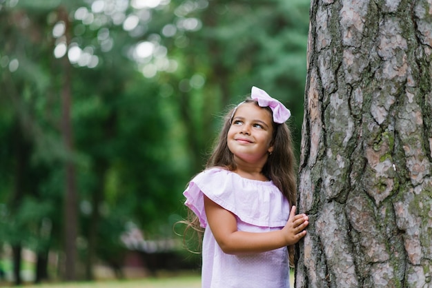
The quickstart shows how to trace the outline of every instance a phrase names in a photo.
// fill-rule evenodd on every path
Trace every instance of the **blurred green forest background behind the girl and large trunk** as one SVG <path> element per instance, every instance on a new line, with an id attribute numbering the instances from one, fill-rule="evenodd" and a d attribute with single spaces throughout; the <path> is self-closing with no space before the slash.
<path id="1" fill-rule="evenodd" d="M 226 107 L 266 90 L 298 152 L 309 6 L 0 0 L 3 280 L 196 269 L 173 224 Z"/>

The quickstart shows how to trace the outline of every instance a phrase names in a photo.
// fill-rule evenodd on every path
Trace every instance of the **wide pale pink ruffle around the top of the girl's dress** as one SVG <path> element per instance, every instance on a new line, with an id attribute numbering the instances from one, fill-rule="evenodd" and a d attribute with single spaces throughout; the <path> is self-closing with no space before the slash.
<path id="1" fill-rule="evenodd" d="M 242 178 L 222 168 L 206 169 L 193 178 L 186 190 L 185 205 L 207 226 L 204 195 L 245 223 L 260 227 L 284 227 L 289 216 L 288 200 L 272 181 Z"/>

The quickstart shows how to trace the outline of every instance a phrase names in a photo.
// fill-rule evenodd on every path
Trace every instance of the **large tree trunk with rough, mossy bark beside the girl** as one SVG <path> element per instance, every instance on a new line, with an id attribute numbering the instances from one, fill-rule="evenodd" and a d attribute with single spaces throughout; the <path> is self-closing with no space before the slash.
<path id="1" fill-rule="evenodd" d="M 430 287 L 432 3 L 310 15 L 295 287 Z"/>

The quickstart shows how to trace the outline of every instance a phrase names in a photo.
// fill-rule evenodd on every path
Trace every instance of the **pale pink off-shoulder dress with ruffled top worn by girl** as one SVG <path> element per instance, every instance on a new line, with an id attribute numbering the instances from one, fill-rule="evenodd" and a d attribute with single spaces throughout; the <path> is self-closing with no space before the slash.
<path id="1" fill-rule="evenodd" d="M 185 205 L 205 228 L 202 243 L 202 288 L 289 287 L 286 247 L 259 254 L 225 254 L 207 225 L 204 194 L 235 214 L 237 229 L 268 232 L 282 229 L 289 216 L 288 200 L 272 181 L 242 178 L 222 168 L 206 169 L 184 191 Z"/>

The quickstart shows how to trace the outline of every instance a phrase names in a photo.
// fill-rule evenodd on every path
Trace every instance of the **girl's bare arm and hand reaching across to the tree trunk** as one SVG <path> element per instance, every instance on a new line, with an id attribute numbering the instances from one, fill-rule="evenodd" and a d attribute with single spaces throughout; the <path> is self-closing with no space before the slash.
<path id="1" fill-rule="evenodd" d="M 284 228 L 272 232 L 237 231 L 237 220 L 231 212 L 204 196 L 208 225 L 217 244 L 226 254 L 255 254 L 293 245 L 306 235 L 308 216 L 295 215 L 292 207 Z"/>

